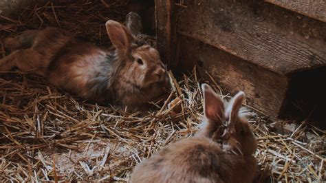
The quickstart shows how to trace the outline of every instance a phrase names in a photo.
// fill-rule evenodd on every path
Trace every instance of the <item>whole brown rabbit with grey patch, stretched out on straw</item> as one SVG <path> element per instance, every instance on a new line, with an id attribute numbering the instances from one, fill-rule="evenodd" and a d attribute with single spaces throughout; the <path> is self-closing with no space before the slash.
<path id="1" fill-rule="evenodd" d="M 27 30 L 6 39 L 6 47 L 21 50 L 0 60 L 0 72 L 18 67 L 97 103 L 127 106 L 129 111 L 144 109 L 148 101 L 164 94 L 166 68 L 157 50 L 140 44 L 142 41 L 135 39 L 138 35 L 131 34 L 140 32 L 117 21 L 109 20 L 105 25 L 116 47 L 114 52 L 79 41 L 58 28 Z"/>

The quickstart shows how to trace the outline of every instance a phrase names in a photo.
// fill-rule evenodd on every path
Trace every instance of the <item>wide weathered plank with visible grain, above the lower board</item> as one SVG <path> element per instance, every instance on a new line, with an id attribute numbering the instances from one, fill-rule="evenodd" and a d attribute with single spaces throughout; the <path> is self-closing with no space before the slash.
<path id="1" fill-rule="evenodd" d="M 279 74 L 326 65 L 325 23 L 250 2 L 189 1 L 177 32 Z"/>

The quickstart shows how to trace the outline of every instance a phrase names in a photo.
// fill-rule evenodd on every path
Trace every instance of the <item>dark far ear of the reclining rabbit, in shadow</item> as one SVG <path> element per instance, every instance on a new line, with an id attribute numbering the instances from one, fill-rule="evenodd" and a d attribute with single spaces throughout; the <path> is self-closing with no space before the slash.
<path id="1" fill-rule="evenodd" d="M 142 19 L 136 12 L 129 12 L 127 14 L 125 24 L 133 36 L 138 36 L 142 33 Z"/>

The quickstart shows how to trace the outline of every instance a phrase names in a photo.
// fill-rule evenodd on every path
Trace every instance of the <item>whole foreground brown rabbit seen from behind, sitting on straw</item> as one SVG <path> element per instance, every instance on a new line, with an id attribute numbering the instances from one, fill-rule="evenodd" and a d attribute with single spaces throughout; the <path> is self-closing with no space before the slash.
<path id="1" fill-rule="evenodd" d="M 203 84 L 204 127 L 188 139 L 164 147 L 137 166 L 131 182 L 252 182 L 257 149 L 239 92 L 227 106 Z"/>

